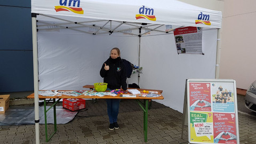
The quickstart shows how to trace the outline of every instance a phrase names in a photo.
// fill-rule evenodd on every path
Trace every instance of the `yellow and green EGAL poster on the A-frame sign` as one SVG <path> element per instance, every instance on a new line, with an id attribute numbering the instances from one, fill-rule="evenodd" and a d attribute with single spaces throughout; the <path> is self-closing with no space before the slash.
<path id="1" fill-rule="evenodd" d="M 212 113 L 190 113 L 190 141 L 213 143 Z"/>

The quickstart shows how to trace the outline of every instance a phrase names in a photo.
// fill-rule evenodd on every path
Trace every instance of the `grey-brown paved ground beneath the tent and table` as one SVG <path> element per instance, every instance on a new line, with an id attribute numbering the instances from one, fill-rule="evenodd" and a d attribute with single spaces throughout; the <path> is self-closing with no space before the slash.
<path id="1" fill-rule="evenodd" d="M 240 143 L 256 143 L 256 114 L 244 107 L 244 96 L 237 95 Z M 61 102 L 58 105 L 62 105 Z M 29 105 L 25 105 L 29 106 Z M 31 105 L 30 105 L 31 106 Z M 118 115 L 120 129 L 108 130 L 105 100 L 86 101 L 73 121 L 58 124 L 58 131 L 45 142 L 40 125 L 41 143 L 188 143 L 187 126 L 181 139 L 182 114 L 153 102 L 148 112 L 148 142 L 143 138 L 143 112 L 135 100 L 122 100 Z M 53 125 L 49 125 L 53 131 Z M 35 143 L 34 125 L 0 126 L 0 143 Z"/>

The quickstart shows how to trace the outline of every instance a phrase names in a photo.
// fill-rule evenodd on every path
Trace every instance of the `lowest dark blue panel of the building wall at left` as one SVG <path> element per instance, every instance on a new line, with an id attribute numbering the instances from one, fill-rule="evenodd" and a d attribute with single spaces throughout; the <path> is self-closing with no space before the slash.
<path id="1" fill-rule="evenodd" d="M 0 92 L 33 91 L 33 51 L 0 51 Z"/>

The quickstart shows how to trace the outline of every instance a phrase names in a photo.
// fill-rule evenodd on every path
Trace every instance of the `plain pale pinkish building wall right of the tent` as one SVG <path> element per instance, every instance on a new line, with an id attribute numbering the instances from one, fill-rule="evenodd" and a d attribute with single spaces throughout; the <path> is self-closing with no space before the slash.
<path id="1" fill-rule="evenodd" d="M 256 1 L 225 1 L 222 19 L 220 78 L 247 89 L 256 80 Z"/>

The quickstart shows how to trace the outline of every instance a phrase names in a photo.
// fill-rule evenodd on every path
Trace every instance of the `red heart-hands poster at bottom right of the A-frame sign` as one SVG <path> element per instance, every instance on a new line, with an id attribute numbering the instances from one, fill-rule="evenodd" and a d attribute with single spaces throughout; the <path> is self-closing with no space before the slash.
<path id="1" fill-rule="evenodd" d="M 237 143 L 235 120 L 235 114 L 213 113 L 214 143 Z"/>

